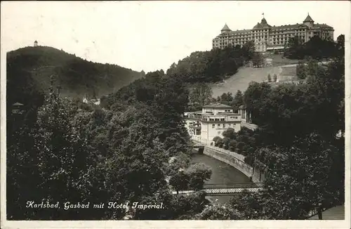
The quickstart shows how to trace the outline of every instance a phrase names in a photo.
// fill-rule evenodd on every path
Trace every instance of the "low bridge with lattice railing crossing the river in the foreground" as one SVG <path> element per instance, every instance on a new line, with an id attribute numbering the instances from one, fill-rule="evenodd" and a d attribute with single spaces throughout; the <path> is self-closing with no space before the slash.
<path id="1" fill-rule="evenodd" d="M 263 183 L 208 183 L 204 185 L 204 188 L 201 190 L 206 193 L 206 195 L 219 196 L 219 195 L 234 195 L 238 194 L 244 190 L 248 192 L 258 192 L 263 190 Z M 183 190 L 178 191 L 178 194 L 190 194 L 197 192 L 195 190 Z M 173 191 L 173 195 L 176 195 L 177 192 Z"/>

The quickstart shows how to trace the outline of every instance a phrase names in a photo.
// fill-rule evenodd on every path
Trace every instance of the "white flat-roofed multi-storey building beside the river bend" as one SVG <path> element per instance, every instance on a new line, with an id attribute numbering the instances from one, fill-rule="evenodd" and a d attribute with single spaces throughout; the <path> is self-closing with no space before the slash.
<path id="1" fill-rule="evenodd" d="M 227 129 L 240 131 L 241 122 L 249 119 L 249 115 L 242 107 L 235 113 L 228 105 L 212 104 L 204 106 L 197 112 L 186 112 L 185 127 L 193 139 L 208 143 L 216 136 L 223 138 L 222 133 Z"/>

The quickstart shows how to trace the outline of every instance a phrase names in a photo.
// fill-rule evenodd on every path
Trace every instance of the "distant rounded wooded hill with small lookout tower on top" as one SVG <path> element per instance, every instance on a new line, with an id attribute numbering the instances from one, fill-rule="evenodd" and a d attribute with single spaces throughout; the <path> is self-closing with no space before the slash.
<path id="1" fill-rule="evenodd" d="M 140 72 L 118 65 L 93 63 L 48 46 L 25 47 L 7 53 L 7 92 L 25 96 L 29 84 L 47 91 L 50 76 L 62 96 L 104 96 L 141 77 Z M 31 86 L 31 87 L 32 87 Z M 20 102 L 20 101 L 18 101 Z"/>

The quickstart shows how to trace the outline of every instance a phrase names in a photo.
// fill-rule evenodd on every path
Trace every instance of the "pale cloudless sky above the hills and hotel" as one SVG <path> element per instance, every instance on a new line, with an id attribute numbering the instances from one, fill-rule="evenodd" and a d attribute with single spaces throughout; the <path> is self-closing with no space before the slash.
<path id="1" fill-rule="evenodd" d="M 1 1 L 1 49 L 52 46 L 98 63 L 166 71 L 194 51 L 211 50 L 227 23 L 252 29 L 315 23 L 350 41 L 350 1 Z"/>

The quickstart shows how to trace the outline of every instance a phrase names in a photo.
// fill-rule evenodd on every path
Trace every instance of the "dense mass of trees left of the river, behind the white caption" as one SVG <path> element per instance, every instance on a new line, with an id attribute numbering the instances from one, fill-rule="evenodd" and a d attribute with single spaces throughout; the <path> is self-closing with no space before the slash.
<path id="1" fill-rule="evenodd" d="M 17 123 L 18 128 L 8 128 L 8 218 L 173 219 L 204 208 L 204 195 L 171 195 L 167 182 L 183 168 L 190 174 L 190 188 L 199 190 L 211 176 L 206 166 L 189 163 L 183 84 L 153 72 L 108 96 L 104 104 L 104 109 L 82 107 L 59 98 L 51 87 L 36 118 L 24 119 L 26 112 L 9 114 L 8 126 Z M 178 159 L 173 169 L 171 157 Z M 25 208 L 29 200 L 61 205 L 162 202 L 164 208 L 64 211 L 62 206 L 47 211 Z"/>

